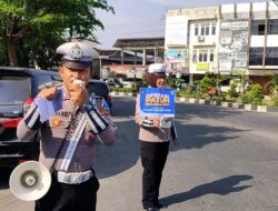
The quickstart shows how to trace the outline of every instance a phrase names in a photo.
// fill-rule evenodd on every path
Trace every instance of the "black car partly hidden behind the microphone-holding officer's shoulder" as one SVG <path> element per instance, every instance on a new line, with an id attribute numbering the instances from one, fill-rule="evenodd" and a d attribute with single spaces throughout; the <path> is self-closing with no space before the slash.
<path id="1" fill-rule="evenodd" d="M 98 96 L 98 97 L 102 97 L 107 101 L 110 112 L 111 112 L 112 98 L 109 94 L 109 89 L 105 81 L 90 79 L 87 89 L 89 93 Z"/>

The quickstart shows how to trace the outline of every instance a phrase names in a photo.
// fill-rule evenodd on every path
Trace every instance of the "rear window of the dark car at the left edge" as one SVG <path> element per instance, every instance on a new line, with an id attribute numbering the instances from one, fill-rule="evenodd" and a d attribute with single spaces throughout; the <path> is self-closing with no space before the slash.
<path id="1" fill-rule="evenodd" d="M 22 104 L 30 98 L 31 79 L 28 77 L 0 77 L 0 104 Z"/>

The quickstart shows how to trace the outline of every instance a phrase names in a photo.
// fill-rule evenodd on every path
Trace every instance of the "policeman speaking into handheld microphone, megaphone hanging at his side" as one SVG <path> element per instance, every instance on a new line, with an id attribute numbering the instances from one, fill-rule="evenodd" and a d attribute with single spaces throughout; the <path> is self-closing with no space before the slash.
<path id="1" fill-rule="evenodd" d="M 44 89 L 37 99 L 57 100 L 62 94 L 62 109 L 41 122 L 34 100 L 17 130 L 20 140 L 41 133 L 39 161 L 52 175 L 50 190 L 36 201 L 34 210 L 93 211 L 99 189 L 93 170 L 96 139 L 110 145 L 116 141 L 117 129 L 109 112 L 100 112 L 106 102 L 86 90 L 98 53 L 81 41 L 63 43 L 57 53 L 62 54 L 59 73 L 63 87 Z"/>

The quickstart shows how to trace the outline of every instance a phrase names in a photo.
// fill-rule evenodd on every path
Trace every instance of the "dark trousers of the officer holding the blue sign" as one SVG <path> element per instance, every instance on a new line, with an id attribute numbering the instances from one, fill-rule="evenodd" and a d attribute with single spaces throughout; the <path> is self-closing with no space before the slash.
<path id="1" fill-rule="evenodd" d="M 159 187 L 162 171 L 169 152 L 168 142 L 141 143 L 142 173 L 142 205 L 143 208 L 155 207 L 159 198 Z"/>

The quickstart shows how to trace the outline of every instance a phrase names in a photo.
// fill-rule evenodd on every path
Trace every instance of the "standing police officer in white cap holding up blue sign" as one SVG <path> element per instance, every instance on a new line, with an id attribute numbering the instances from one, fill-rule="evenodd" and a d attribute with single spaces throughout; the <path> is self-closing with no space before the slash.
<path id="1" fill-rule="evenodd" d="M 152 63 L 146 73 L 150 88 L 166 88 L 166 70 L 162 63 Z M 169 141 L 178 144 L 178 137 L 172 118 L 167 119 L 168 127 L 162 127 L 158 117 L 140 117 L 140 94 L 137 97 L 136 122 L 140 125 L 139 141 L 141 150 L 142 207 L 148 211 L 157 211 L 166 205 L 159 198 L 162 171 L 169 151 Z"/>

